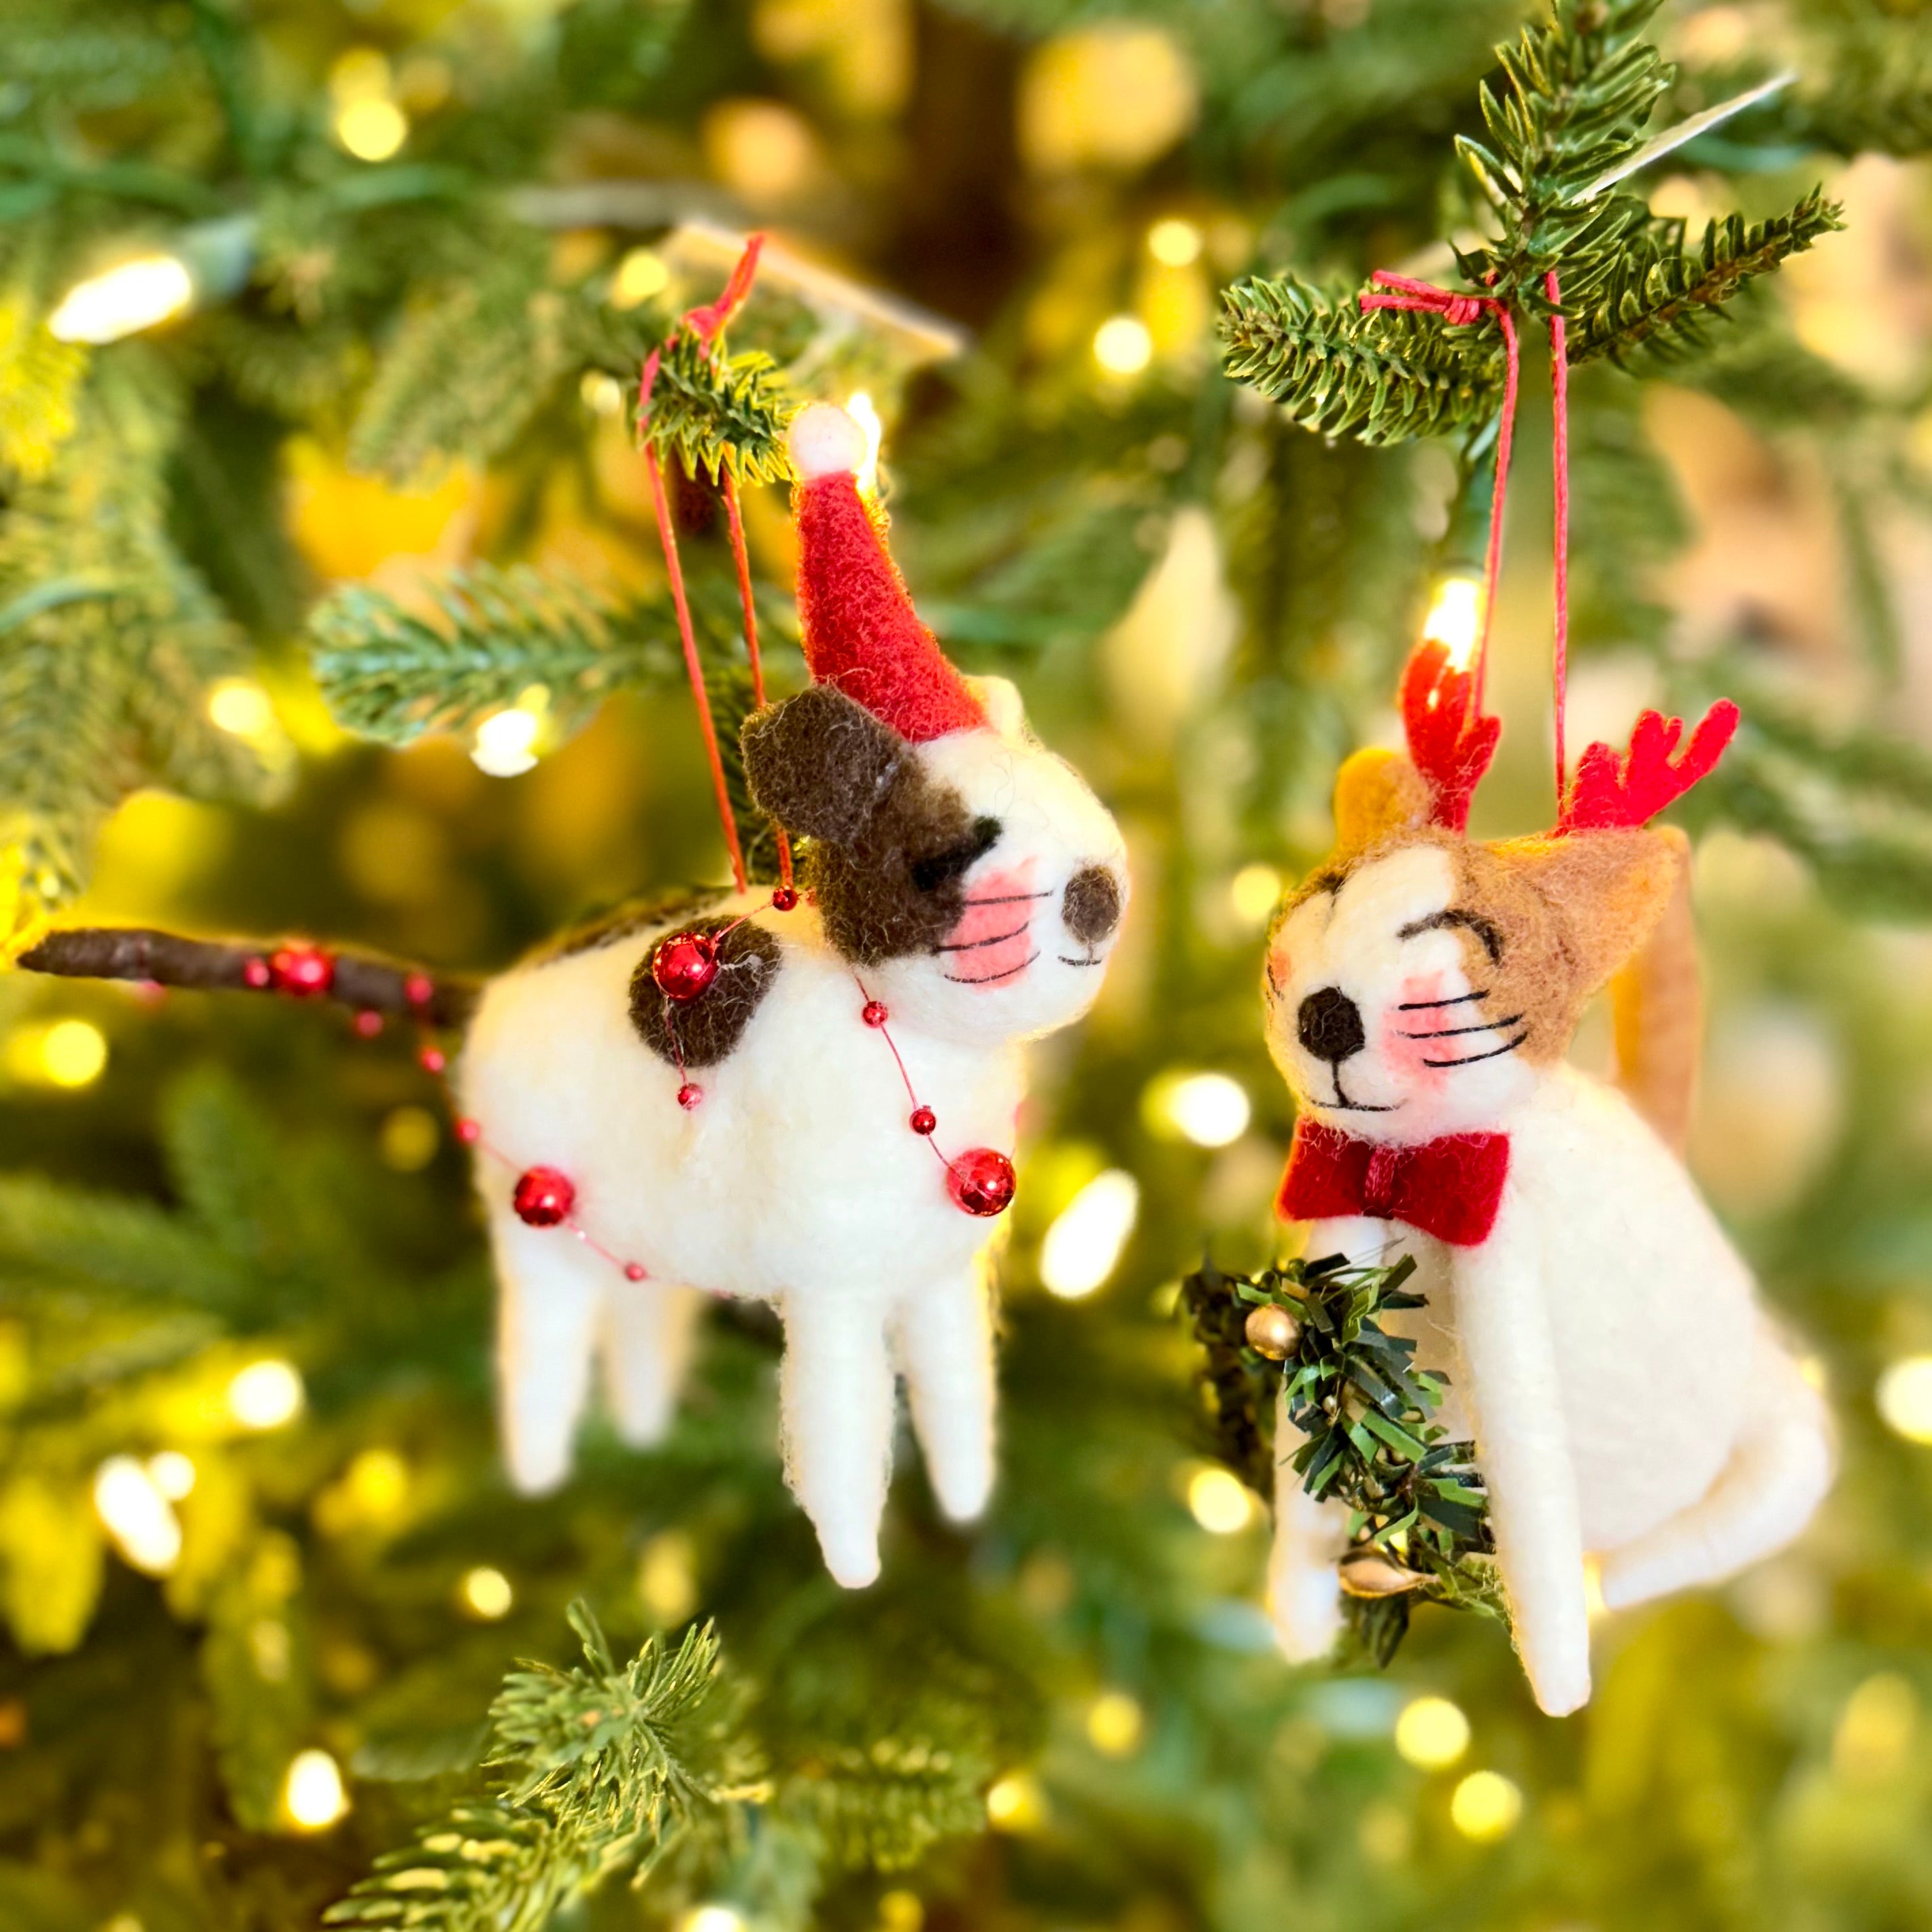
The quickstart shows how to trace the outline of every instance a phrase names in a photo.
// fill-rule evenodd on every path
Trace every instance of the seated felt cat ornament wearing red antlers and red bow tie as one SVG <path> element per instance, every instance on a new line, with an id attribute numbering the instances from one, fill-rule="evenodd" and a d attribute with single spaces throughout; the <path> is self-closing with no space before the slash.
<path id="1" fill-rule="evenodd" d="M 1675 761 L 1681 724 L 1644 713 L 1625 757 L 1590 746 L 1549 837 L 1501 842 L 1464 831 L 1499 724 L 1439 643 L 1410 659 L 1403 717 L 1408 757 L 1349 759 L 1335 852 L 1269 933 L 1267 1041 L 1300 1109 L 1279 1209 L 1310 1256 L 1416 1258 L 1428 1306 L 1401 1331 L 1476 1443 L 1517 1646 L 1563 1714 L 1590 1696 L 1586 1563 L 1611 1607 L 1729 1577 L 1832 1478 L 1824 1403 L 1679 1159 L 1689 848 L 1646 825 L 1737 709 Z M 1615 1084 L 1563 1057 L 1605 981 Z M 1283 1461 L 1269 1594 L 1291 1658 L 1339 1631 L 1347 1542 L 1347 1509 Z"/>

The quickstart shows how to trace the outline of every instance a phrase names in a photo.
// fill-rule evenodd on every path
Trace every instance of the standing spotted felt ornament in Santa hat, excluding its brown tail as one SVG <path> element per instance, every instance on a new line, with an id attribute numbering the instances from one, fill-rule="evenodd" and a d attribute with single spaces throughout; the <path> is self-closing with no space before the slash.
<path id="1" fill-rule="evenodd" d="M 786 1474 L 846 1586 L 879 1571 L 895 1366 L 945 1511 L 987 1499 L 981 1264 L 1022 1043 L 1094 1003 L 1126 908 L 1099 800 L 914 614 L 864 450 L 842 410 L 792 423 L 813 684 L 744 728 L 753 798 L 804 840 L 804 902 L 721 895 L 566 941 L 483 989 L 458 1074 L 504 1155 L 477 1182 L 518 1486 L 564 1478 L 595 1356 L 620 1432 L 651 1443 L 703 1291 L 769 1300 Z M 531 1225 L 539 1161 L 628 1267 Z"/>

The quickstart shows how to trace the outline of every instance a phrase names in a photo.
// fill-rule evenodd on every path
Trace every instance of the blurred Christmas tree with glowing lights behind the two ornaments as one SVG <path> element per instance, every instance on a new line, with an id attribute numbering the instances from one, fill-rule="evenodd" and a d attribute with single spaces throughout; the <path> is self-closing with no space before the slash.
<path id="1" fill-rule="evenodd" d="M 1387 1673 L 1291 1671 L 1175 1312 L 1204 1250 L 1275 1248 L 1262 925 L 1410 639 L 1466 612 L 1480 502 L 1455 439 L 1325 440 L 1229 383 L 1219 290 L 1453 280 L 1443 238 L 1480 226 L 1453 137 L 1526 17 L 12 0 L 0 927 L 487 970 L 719 877 L 626 383 L 750 226 L 775 247 L 732 350 L 867 398 L 923 614 L 1113 804 L 1136 902 L 1095 1014 L 1037 1055 L 995 1509 L 947 1530 L 902 1457 L 860 1596 L 782 1490 L 748 1314 L 713 1320 L 663 1451 L 595 1426 L 558 1497 L 508 1492 L 413 1041 L 0 978 L 0 1922 L 284 1932 L 412 1841 L 375 1922 L 1932 1920 L 1922 0 L 1658 15 L 1654 126 L 1797 79 L 1652 166 L 1656 216 L 1694 243 L 1824 182 L 1847 228 L 1573 394 L 1573 744 L 1644 701 L 1747 709 L 1689 813 L 1694 1165 L 1832 1389 L 1822 1520 L 1605 1619 L 1565 1723 L 1443 1611 Z M 1536 354 L 1480 831 L 1553 817 Z M 676 514 L 728 682 L 715 497 L 688 479 Z M 796 682 L 782 485 L 746 522 Z M 504 1692 L 493 1799 L 491 1698 L 576 1658 L 574 1598 L 605 1634 L 580 1617 L 585 1675 Z M 636 1889 L 580 1884 L 647 1853 Z"/>

